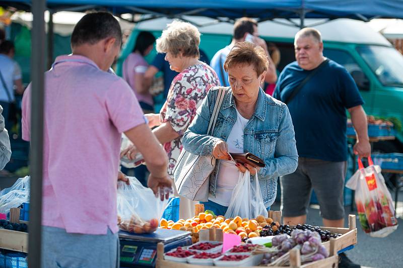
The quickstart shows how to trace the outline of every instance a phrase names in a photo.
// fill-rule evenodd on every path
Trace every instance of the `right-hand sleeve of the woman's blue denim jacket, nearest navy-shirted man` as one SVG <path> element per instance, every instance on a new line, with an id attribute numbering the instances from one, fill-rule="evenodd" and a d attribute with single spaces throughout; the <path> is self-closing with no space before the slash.
<path id="1" fill-rule="evenodd" d="M 266 166 L 260 168 L 258 177 L 262 180 L 293 173 L 298 166 L 298 153 L 295 142 L 294 126 L 286 105 L 279 122 L 274 159 L 268 159 Z"/>

